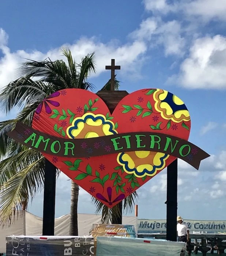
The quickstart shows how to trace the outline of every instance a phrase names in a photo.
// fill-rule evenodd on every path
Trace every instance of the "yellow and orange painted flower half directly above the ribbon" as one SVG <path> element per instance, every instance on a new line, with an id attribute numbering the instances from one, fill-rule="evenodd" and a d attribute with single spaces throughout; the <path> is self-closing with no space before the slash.
<path id="1" fill-rule="evenodd" d="M 71 139 L 88 139 L 117 133 L 112 121 L 106 120 L 102 114 L 95 115 L 93 113 L 76 117 L 66 132 Z"/>

